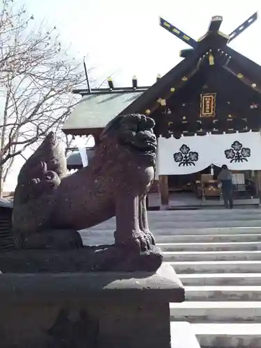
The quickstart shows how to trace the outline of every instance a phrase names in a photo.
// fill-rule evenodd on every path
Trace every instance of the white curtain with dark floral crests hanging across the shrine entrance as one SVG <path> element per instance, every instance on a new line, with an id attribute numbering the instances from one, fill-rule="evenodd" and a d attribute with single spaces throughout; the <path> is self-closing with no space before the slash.
<path id="1" fill-rule="evenodd" d="M 211 134 L 158 139 L 157 174 L 184 175 L 211 164 L 236 171 L 261 170 L 260 133 Z"/>

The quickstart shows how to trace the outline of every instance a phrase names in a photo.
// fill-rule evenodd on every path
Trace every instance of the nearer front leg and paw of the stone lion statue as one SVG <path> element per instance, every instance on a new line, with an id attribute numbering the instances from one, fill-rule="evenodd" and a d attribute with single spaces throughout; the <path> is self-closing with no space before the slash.
<path id="1" fill-rule="evenodd" d="M 139 196 L 122 194 L 116 197 L 115 243 L 136 251 L 150 248 L 148 238 L 139 227 Z"/>

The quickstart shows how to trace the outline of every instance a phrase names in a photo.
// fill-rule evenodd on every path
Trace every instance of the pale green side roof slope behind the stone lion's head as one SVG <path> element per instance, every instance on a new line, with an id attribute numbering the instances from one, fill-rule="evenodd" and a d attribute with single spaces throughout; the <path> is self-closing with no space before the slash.
<path id="1" fill-rule="evenodd" d="M 63 129 L 103 128 L 143 92 L 91 94 L 74 106 Z"/>

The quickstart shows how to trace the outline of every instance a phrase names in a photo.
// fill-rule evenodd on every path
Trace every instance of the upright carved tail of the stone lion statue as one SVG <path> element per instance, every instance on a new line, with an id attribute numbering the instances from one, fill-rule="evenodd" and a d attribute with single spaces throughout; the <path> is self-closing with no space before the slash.
<path id="1" fill-rule="evenodd" d="M 65 153 L 51 132 L 19 172 L 13 203 L 15 232 L 30 234 L 46 227 L 54 208 L 54 189 L 66 173 Z"/>

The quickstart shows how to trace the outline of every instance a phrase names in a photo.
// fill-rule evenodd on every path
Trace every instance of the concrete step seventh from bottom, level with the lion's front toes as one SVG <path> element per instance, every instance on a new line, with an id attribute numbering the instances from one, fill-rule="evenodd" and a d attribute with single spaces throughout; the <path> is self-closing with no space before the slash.
<path id="1" fill-rule="evenodd" d="M 259 251 L 261 242 L 157 243 L 162 251 Z"/>

